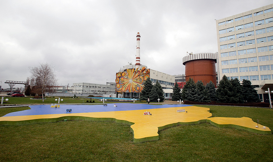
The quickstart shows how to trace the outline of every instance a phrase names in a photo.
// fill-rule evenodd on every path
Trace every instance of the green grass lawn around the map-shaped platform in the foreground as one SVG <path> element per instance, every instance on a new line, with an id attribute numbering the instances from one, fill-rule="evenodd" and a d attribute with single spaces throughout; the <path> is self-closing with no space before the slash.
<path id="1" fill-rule="evenodd" d="M 273 110 L 209 107 L 213 117 L 250 117 L 273 128 Z M 1 108 L 7 112 L 28 108 Z M 159 131 L 159 140 L 133 143 L 129 125 L 61 121 L 0 126 L 0 161 L 272 161 L 273 135 L 208 123 Z"/>

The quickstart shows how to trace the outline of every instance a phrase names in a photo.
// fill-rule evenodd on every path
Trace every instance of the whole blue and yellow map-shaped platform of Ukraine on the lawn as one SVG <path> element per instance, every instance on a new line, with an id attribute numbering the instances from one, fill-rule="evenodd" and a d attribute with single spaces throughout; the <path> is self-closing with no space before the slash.
<path id="1" fill-rule="evenodd" d="M 116 105 L 116 107 L 114 107 Z M 0 125 L 27 125 L 62 120 L 114 121 L 128 124 L 134 142 L 155 141 L 158 131 L 177 125 L 193 125 L 203 122 L 219 128 L 240 128 L 257 134 L 271 134 L 271 130 L 257 125 L 251 118 L 213 117 L 209 108 L 190 105 L 147 105 L 115 103 L 105 105 L 33 105 L 30 110 L 12 112 L 0 117 Z M 72 111 L 66 111 L 71 109 Z M 182 111 L 177 111 L 181 110 Z M 185 111 L 184 111 L 185 110 Z M 144 115 L 145 112 L 147 115 Z M 258 126 L 258 128 L 256 127 Z"/>

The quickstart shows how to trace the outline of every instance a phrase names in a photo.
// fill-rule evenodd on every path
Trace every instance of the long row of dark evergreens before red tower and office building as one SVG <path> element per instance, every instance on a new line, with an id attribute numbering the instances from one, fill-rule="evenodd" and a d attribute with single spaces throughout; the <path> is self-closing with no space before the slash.
<path id="1" fill-rule="evenodd" d="M 244 102 L 260 102 L 257 90 L 251 85 L 251 81 L 243 79 L 242 84 L 238 78 L 229 80 L 227 76 L 223 76 L 217 89 L 212 81 L 203 84 L 190 78 L 184 85 L 182 92 L 178 84 L 175 83 L 173 88 L 173 101 L 179 99 L 194 102 L 220 102 L 220 103 L 244 103 Z"/>

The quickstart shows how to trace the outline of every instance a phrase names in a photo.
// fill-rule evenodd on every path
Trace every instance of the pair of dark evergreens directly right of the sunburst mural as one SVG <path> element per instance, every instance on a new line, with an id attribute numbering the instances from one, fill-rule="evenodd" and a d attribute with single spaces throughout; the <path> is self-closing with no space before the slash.
<path id="1" fill-rule="evenodd" d="M 158 102 L 157 99 L 160 99 L 160 102 L 164 101 L 164 91 L 162 86 L 158 81 L 153 85 L 150 78 L 147 78 L 143 85 L 143 89 L 140 92 L 140 101 L 147 101 L 148 98 L 150 102 Z"/>

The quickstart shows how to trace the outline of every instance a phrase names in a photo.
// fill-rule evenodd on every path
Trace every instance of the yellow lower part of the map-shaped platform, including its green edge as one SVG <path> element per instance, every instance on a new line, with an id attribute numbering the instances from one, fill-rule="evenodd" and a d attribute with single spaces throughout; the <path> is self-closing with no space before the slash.
<path id="1" fill-rule="evenodd" d="M 177 109 L 185 109 L 187 112 L 177 112 Z M 259 128 L 251 118 L 222 118 L 211 117 L 209 108 L 187 106 L 162 109 L 145 109 L 115 112 L 90 112 L 69 113 L 52 115 L 28 115 L 0 117 L 0 125 L 25 125 L 41 122 L 56 122 L 67 120 L 90 120 L 90 121 L 114 121 L 131 125 L 134 134 L 134 142 L 154 141 L 159 139 L 158 131 L 177 125 L 192 125 L 209 122 L 219 128 L 241 128 L 259 134 L 271 134 L 271 130 L 263 125 Z M 143 115 L 144 112 L 152 115 Z M 10 122 L 8 122 L 10 121 Z"/>

